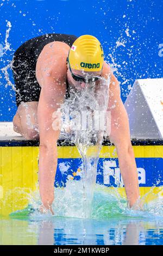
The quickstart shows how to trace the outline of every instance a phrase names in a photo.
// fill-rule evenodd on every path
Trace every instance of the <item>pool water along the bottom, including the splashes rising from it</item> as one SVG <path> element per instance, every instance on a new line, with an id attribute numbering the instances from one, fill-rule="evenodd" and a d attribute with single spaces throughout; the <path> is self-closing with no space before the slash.
<path id="1" fill-rule="evenodd" d="M 41 214 L 38 195 L 24 210 L 1 217 L 1 245 L 162 245 L 163 203 L 127 208 L 124 198 L 96 185 L 91 216 L 83 214 L 82 182 L 55 189 L 54 216 Z"/>

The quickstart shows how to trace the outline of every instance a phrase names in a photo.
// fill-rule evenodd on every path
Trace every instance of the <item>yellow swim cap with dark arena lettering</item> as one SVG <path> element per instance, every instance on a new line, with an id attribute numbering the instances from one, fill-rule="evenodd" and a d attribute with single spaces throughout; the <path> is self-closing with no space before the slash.
<path id="1" fill-rule="evenodd" d="M 104 62 L 102 45 L 93 35 L 81 35 L 70 48 L 68 59 L 72 69 L 101 71 Z"/>

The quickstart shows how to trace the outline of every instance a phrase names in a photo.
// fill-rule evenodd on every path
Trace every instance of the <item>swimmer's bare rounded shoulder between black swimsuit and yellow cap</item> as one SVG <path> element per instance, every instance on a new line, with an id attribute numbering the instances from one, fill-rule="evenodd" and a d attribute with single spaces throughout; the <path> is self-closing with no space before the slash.
<path id="1" fill-rule="evenodd" d="M 70 46 L 65 42 L 54 41 L 43 47 L 36 63 L 36 78 L 40 86 L 43 77 L 53 73 L 53 75 L 62 77 L 66 75 L 66 59 Z"/>

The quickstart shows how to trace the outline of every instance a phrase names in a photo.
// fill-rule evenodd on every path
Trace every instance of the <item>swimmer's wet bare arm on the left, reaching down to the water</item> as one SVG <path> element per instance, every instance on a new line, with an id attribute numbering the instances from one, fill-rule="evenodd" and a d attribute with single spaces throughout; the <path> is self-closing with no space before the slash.
<path id="1" fill-rule="evenodd" d="M 62 78 L 59 78 L 61 81 Z M 52 211 L 54 200 L 54 179 L 57 169 L 57 140 L 60 129 L 53 130 L 53 121 L 57 120 L 54 112 L 60 108 L 60 103 L 64 101 L 65 84 L 58 84 L 53 76 L 49 76 L 44 81 L 38 106 L 38 123 L 40 133 L 39 146 L 39 189 L 43 206 Z"/>

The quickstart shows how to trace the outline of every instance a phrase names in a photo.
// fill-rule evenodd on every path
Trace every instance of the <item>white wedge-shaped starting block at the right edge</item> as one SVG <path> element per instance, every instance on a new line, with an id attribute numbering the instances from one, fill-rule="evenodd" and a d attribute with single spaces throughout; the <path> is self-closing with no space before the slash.
<path id="1" fill-rule="evenodd" d="M 163 138 L 163 78 L 136 80 L 124 106 L 131 138 Z"/>

